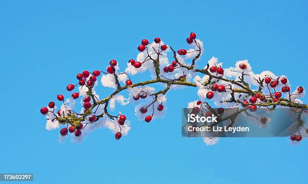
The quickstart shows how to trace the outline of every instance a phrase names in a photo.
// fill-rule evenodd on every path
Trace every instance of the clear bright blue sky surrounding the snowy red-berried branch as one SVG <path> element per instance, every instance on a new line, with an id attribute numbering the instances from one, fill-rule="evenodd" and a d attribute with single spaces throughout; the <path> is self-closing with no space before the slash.
<path id="1" fill-rule="evenodd" d="M 180 48 L 191 31 L 205 44 L 201 62 L 249 59 L 256 73 L 269 69 L 293 87 L 308 86 L 307 8 L 307 1 L 2 1 L 0 172 L 34 173 L 34 183 L 306 182 L 305 139 L 292 146 L 287 138 L 225 138 L 206 146 L 182 138 L 181 107 L 197 99 L 196 89 L 171 91 L 166 118 L 150 124 L 134 117 L 132 105 L 122 108 L 132 129 L 120 141 L 99 129 L 83 143 L 60 144 L 39 109 L 76 73 L 135 58 L 141 39 L 159 36 Z"/>

